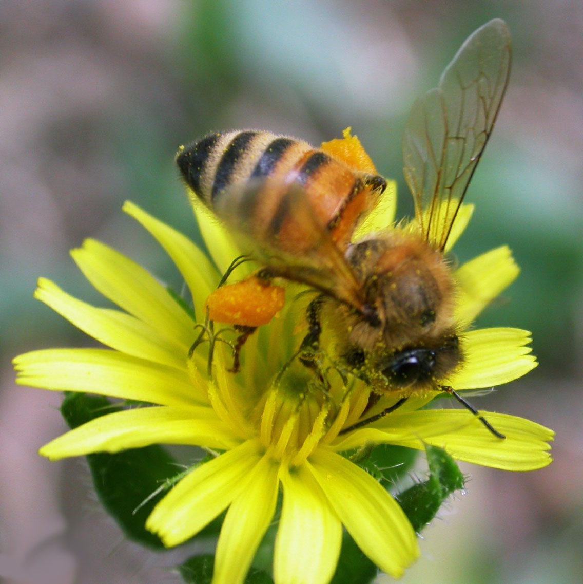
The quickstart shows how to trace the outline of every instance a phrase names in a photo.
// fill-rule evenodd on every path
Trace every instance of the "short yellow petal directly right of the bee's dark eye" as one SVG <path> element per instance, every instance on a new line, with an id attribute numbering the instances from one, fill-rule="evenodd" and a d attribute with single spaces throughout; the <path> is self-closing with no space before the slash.
<path id="1" fill-rule="evenodd" d="M 537 365 L 529 354 L 530 333 L 515 328 L 488 328 L 464 333 L 462 369 L 443 381 L 455 390 L 501 385 L 522 377 Z"/>

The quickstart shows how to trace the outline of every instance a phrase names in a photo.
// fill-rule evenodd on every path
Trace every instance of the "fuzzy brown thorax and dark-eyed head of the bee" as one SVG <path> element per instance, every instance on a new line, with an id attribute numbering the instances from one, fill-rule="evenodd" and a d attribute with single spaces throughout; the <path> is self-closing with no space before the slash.
<path id="1" fill-rule="evenodd" d="M 463 360 L 453 319 L 453 277 L 441 252 L 395 230 L 347 253 L 375 319 L 337 307 L 341 355 L 377 392 L 431 390 Z M 342 340 L 344 339 L 344 340 Z"/>

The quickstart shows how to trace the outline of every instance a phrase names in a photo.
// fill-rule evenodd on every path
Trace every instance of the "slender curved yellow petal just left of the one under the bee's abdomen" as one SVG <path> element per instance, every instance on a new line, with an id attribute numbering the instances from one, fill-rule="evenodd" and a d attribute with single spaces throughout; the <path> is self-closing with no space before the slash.
<path id="1" fill-rule="evenodd" d="M 125 201 L 123 209 L 139 221 L 172 258 L 190 288 L 197 318 L 203 318 L 205 300 L 221 279 L 210 260 L 190 239 L 152 217 L 131 201 Z"/>

